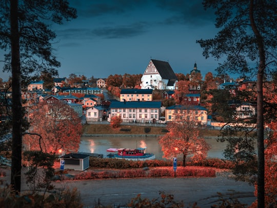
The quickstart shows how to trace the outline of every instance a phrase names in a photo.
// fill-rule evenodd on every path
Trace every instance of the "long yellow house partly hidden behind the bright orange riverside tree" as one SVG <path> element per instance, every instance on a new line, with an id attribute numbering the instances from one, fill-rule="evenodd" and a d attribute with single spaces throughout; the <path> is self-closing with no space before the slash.
<path id="1" fill-rule="evenodd" d="M 166 122 L 174 121 L 177 116 L 185 116 L 185 120 L 207 125 L 208 110 L 199 105 L 172 105 L 165 109 Z"/>

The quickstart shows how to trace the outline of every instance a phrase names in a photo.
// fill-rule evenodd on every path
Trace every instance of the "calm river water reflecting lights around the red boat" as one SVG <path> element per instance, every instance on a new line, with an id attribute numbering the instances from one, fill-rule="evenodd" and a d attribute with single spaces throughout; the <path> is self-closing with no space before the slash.
<path id="1" fill-rule="evenodd" d="M 208 152 L 208 158 L 223 157 L 223 150 L 226 148 L 226 142 L 216 142 L 216 139 L 206 139 L 211 145 Z M 153 153 L 156 159 L 163 159 L 162 148 L 157 141 L 157 137 L 82 137 L 79 152 L 97 153 L 107 156 L 108 148 L 136 148 L 147 147 L 147 153 Z"/>

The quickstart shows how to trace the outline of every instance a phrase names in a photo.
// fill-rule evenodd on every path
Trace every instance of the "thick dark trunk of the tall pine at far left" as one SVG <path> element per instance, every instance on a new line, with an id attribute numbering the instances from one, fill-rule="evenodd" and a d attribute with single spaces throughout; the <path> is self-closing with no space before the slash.
<path id="1" fill-rule="evenodd" d="M 12 68 L 12 165 L 11 185 L 16 193 L 21 191 L 22 159 L 22 102 L 21 70 L 18 32 L 18 0 L 10 1 L 11 68 Z"/>

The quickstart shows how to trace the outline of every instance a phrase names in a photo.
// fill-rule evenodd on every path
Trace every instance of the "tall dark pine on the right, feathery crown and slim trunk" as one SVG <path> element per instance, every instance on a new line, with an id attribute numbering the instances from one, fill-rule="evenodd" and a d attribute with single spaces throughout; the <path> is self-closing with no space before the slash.
<path id="1" fill-rule="evenodd" d="M 203 55 L 226 60 L 217 71 L 256 74 L 258 137 L 258 207 L 265 206 L 264 187 L 264 118 L 263 80 L 276 70 L 277 2 L 205 0 L 204 8 L 215 9 L 216 28 L 222 28 L 214 39 L 198 40 Z M 251 61 L 256 65 L 251 66 Z"/>

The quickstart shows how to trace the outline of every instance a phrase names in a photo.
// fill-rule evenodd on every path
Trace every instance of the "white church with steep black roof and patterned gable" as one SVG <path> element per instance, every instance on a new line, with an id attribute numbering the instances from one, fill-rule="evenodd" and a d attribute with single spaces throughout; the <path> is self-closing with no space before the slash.
<path id="1" fill-rule="evenodd" d="M 168 62 L 151 59 L 141 81 L 142 89 L 174 90 L 177 77 Z"/>

